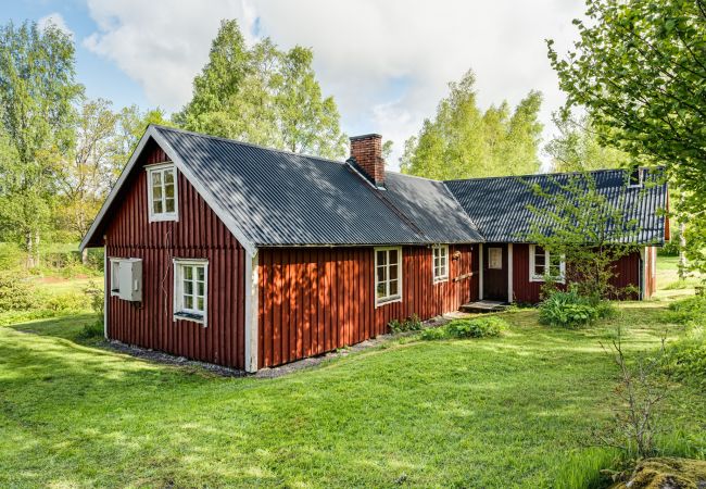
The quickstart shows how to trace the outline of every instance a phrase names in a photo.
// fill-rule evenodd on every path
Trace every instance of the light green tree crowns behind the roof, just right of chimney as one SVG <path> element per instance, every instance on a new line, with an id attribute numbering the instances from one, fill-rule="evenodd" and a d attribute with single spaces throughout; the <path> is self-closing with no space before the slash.
<path id="1" fill-rule="evenodd" d="M 476 77 L 467 72 L 407 139 L 400 160 L 403 173 L 437 179 L 537 173 L 542 124 L 541 93 L 531 91 L 510 113 L 507 102 L 484 113 L 478 108 Z"/>

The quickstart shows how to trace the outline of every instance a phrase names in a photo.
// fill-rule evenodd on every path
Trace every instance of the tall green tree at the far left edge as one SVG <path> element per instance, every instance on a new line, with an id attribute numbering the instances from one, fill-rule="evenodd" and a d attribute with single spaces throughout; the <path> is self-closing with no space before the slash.
<path id="1" fill-rule="evenodd" d="M 23 240 L 29 265 L 49 225 L 81 90 L 67 34 L 29 22 L 0 27 L 0 222 Z"/>

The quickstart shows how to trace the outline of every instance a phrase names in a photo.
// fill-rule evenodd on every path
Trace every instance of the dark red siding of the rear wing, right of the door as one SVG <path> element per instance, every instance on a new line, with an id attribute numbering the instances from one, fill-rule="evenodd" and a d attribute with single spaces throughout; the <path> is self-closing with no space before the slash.
<path id="1" fill-rule="evenodd" d="M 640 252 L 635 251 L 622 256 L 615 264 L 615 277 L 610 280 L 618 289 L 625 289 L 629 286 L 640 288 L 640 266 L 642 264 Z M 654 279 L 653 288 L 654 286 Z M 534 303 L 540 301 L 542 292 L 541 281 L 530 281 L 529 279 L 529 244 L 513 246 L 513 293 L 516 302 Z M 627 299 L 638 299 L 636 294 L 631 294 Z"/>

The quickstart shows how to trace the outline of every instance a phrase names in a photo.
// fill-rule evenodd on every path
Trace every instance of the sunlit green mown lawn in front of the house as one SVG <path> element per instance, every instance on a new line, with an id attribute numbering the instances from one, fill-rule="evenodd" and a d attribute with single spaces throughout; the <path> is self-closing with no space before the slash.
<path id="1" fill-rule="evenodd" d="M 587 448 L 617 380 L 598 342 L 621 324 L 656 348 L 679 334 L 667 303 L 579 331 L 518 310 L 500 338 L 407 338 L 277 379 L 103 350 L 78 339 L 88 315 L 0 327 L 0 487 L 570 487 L 612 457 Z M 704 456 L 706 398 L 675 399 L 663 444 Z"/>

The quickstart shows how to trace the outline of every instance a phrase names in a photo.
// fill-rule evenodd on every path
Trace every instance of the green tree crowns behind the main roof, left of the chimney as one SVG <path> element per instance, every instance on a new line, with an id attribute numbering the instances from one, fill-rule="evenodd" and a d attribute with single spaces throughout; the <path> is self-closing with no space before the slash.
<path id="1" fill-rule="evenodd" d="M 345 153 L 332 97 L 324 98 L 311 49 L 281 51 L 269 38 L 248 48 L 236 21 L 223 21 L 193 97 L 175 115 L 182 127 L 327 158 Z"/>

